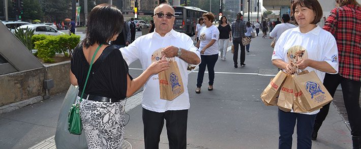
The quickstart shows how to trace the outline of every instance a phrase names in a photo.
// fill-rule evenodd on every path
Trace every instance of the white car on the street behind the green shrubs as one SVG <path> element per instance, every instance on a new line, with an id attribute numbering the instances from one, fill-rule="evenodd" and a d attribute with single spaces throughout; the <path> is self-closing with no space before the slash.
<path id="1" fill-rule="evenodd" d="M 44 35 L 63 35 L 65 33 L 57 31 L 55 28 L 49 26 L 49 25 L 44 25 L 44 24 L 26 24 L 26 25 L 21 25 L 18 28 L 31 28 L 34 29 L 34 35 L 38 35 L 38 34 L 44 34 Z"/>

